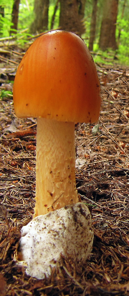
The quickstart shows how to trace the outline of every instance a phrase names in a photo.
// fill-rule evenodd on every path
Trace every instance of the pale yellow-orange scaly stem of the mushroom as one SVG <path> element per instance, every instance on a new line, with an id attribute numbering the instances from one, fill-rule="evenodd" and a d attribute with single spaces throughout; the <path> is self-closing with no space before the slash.
<path id="1" fill-rule="evenodd" d="M 37 119 L 34 217 L 78 201 L 75 185 L 75 125 Z"/>

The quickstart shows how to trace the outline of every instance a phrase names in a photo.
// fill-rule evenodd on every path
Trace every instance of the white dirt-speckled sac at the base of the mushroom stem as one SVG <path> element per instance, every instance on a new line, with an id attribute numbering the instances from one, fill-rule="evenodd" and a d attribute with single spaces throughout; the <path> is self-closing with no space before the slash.
<path id="1" fill-rule="evenodd" d="M 21 229 L 20 251 L 27 275 L 43 279 L 51 274 L 61 254 L 86 260 L 92 250 L 91 216 L 83 203 L 68 205 L 34 218 Z"/>

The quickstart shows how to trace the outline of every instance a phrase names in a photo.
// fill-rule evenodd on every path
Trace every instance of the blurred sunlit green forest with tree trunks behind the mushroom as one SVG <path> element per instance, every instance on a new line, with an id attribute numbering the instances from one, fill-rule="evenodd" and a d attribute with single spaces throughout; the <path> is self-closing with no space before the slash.
<path id="1" fill-rule="evenodd" d="M 70 30 L 96 63 L 129 65 L 129 0 L 0 0 L 0 41 L 25 49 L 36 34 Z"/>

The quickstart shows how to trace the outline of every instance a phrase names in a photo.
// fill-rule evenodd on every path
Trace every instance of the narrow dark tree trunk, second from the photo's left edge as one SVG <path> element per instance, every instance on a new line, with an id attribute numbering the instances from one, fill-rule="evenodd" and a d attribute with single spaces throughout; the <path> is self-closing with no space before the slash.
<path id="1" fill-rule="evenodd" d="M 12 9 L 12 19 L 11 19 L 11 22 L 14 25 L 11 26 L 10 35 L 11 33 L 16 34 L 16 31 L 14 30 L 17 30 L 17 26 L 18 26 L 19 4 L 20 4 L 20 0 L 14 0 L 13 9 Z"/>

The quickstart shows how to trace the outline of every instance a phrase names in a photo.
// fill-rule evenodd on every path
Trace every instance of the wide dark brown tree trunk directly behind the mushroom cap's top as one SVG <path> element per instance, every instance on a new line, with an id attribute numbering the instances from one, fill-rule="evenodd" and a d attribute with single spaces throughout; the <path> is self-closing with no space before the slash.
<path id="1" fill-rule="evenodd" d="M 86 0 L 60 0 L 59 26 L 81 37 L 85 33 L 83 22 Z"/>

